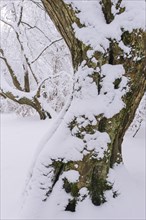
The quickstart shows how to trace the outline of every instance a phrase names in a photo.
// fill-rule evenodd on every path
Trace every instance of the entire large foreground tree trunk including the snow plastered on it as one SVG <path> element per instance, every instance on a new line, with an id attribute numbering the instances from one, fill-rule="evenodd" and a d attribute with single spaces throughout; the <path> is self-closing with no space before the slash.
<path id="1" fill-rule="evenodd" d="M 144 1 L 42 2 L 71 51 L 74 89 L 27 190 L 41 201 L 61 191 L 59 205 L 75 211 L 87 196 L 95 205 L 107 190 L 116 196 L 109 169 L 122 162 L 123 137 L 145 90 Z"/>

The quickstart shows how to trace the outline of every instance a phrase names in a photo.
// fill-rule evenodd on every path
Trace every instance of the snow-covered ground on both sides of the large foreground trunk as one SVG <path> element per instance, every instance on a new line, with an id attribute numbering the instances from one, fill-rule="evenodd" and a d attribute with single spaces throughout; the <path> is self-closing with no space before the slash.
<path id="1" fill-rule="evenodd" d="M 21 195 L 36 148 L 50 126 L 37 117 L 1 115 L 1 219 L 20 219 Z M 101 207 L 87 199 L 76 213 L 44 211 L 45 219 L 144 220 L 145 216 L 145 123 L 135 138 L 127 134 L 123 143 L 125 166 L 111 172 L 121 193 Z M 47 210 L 47 209 L 46 209 Z"/>

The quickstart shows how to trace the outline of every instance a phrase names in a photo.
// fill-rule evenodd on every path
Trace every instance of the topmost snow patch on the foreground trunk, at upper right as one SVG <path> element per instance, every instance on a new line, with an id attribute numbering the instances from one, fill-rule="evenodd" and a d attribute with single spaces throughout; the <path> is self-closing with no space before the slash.
<path id="1" fill-rule="evenodd" d="M 77 17 L 83 25 L 80 28 L 76 23 L 73 24 L 76 37 L 84 44 L 90 45 L 92 51 L 104 53 L 109 48 L 110 40 L 120 42 L 122 30 L 131 32 L 137 28 L 145 30 L 146 27 L 144 0 L 123 0 L 120 8 L 125 8 L 125 11 L 121 14 L 117 13 L 117 1 L 113 1 L 112 12 L 114 20 L 110 24 L 105 21 L 100 0 L 65 0 L 65 2 L 72 4 L 76 10 Z M 122 45 L 122 48 L 124 48 L 124 45 Z M 127 50 L 129 49 L 127 48 Z"/>

